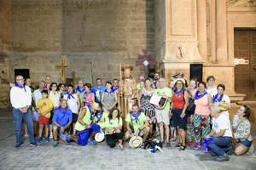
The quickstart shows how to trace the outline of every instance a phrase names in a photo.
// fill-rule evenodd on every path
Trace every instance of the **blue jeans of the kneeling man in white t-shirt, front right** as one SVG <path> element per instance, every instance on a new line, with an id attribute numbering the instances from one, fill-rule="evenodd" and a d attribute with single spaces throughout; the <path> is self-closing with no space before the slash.
<path id="1" fill-rule="evenodd" d="M 231 140 L 232 137 L 227 136 L 214 137 L 207 147 L 211 156 L 224 156 L 225 152 L 230 149 Z"/>

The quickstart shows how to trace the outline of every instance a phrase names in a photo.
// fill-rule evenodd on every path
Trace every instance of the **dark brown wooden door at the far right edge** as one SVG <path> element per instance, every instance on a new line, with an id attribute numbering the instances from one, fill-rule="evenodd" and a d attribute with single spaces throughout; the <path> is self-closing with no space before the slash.
<path id="1" fill-rule="evenodd" d="M 247 94 L 246 100 L 256 99 L 256 29 L 235 30 L 234 48 L 236 59 L 249 62 L 235 66 L 236 93 Z"/>

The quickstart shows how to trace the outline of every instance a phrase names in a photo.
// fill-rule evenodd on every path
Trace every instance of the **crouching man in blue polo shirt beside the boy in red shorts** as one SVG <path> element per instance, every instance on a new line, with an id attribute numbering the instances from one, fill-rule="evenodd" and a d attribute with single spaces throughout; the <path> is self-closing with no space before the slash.
<path id="1" fill-rule="evenodd" d="M 55 140 L 54 147 L 59 144 L 57 140 L 58 129 L 61 134 L 61 140 L 66 142 L 68 136 L 67 128 L 71 125 L 72 121 L 72 111 L 67 108 L 67 100 L 61 99 L 61 107 L 55 110 L 52 118 L 53 136 Z"/>

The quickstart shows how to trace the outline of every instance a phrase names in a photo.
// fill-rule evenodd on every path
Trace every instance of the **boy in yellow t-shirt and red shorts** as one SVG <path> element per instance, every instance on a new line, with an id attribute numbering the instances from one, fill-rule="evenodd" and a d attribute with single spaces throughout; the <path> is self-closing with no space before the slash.
<path id="1" fill-rule="evenodd" d="M 38 100 L 37 109 L 38 109 L 38 124 L 39 124 L 39 138 L 37 142 L 42 140 L 42 134 L 44 129 L 45 142 L 49 142 L 49 117 L 50 111 L 53 110 L 53 104 L 50 99 L 48 99 L 48 91 L 43 90 L 42 99 Z"/>

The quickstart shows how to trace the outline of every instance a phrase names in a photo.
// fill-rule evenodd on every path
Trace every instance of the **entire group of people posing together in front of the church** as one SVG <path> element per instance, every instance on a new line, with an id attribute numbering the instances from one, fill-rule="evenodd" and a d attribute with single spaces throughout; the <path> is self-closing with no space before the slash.
<path id="1" fill-rule="evenodd" d="M 188 84 L 184 74 L 177 71 L 168 87 L 158 73 L 153 80 L 139 77 L 136 84 L 125 71 L 123 80 L 113 79 L 103 86 L 102 79 L 97 78 L 93 88 L 82 80 L 77 88 L 57 84 L 47 76 L 33 90 L 31 78 L 15 77 L 15 87 L 10 91 L 15 147 L 22 144 L 22 120 L 25 136 L 28 133 L 33 146 L 43 142 L 43 133 L 44 142 L 54 139 L 54 146 L 59 144 L 58 139 L 66 144 L 96 144 L 96 133 L 104 133 L 107 144 L 118 144 L 119 150 L 124 150 L 124 140 L 141 136 L 144 147 L 160 135 L 164 147 L 177 142 L 177 148 L 185 150 L 195 139 L 195 150 L 201 148 L 217 156 L 217 161 L 228 161 L 227 152 L 234 150 L 242 155 L 252 145 L 249 108 L 241 105 L 230 123 L 230 98 L 224 94 L 224 84 L 215 86 L 214 77 L 207 77 L 207 83 L 191 79 Z M 131 95 L 125 95 L 128 91 Z M 150 99 L 154 94 L 165 98 L 166 104 L 153 105 Z M 231 143 L 236 144 L 234 149 Z"/>

